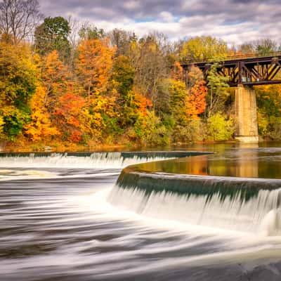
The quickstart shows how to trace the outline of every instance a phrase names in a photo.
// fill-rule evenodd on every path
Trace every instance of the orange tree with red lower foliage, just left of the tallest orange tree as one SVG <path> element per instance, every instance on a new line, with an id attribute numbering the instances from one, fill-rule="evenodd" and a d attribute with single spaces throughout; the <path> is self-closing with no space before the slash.
<path id="1" fill-rule="evenodd" d="M 82 137 L 81 120 L 86 100 L 79 93 L 79 85 L 59 58 L 57 51 L 49 53 L 41 67 L 45 98 L 43 106 L 51 114 L 53 126 L 60 131 L 63 141 L 79 143 Z"/>

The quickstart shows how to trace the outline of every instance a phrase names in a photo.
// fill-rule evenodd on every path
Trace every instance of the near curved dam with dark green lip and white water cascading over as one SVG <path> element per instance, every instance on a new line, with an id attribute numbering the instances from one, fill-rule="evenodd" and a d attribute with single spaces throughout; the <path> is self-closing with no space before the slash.
<path id="1" fill-rule="evenodd" d="M 189 170 L 195 158 L 197 162 L 208 159 L 191 157 L 186 164 Z M 190 225 L 281 234 L 280 179 L 172 174 L 165 172 L 164 163 L 158 162 L 155 171 L 150 171 L 152 164 L 124 169 L 110 193 L 110 202 L 144 216 Z"/>

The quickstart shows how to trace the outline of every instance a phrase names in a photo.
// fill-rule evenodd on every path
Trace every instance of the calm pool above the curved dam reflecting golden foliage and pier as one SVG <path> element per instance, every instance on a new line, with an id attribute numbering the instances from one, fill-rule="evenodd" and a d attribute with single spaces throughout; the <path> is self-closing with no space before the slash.
<path id="1" fill-rule="evenodd" d="M 281 149 L 241 145 L 219 150 L 214 155 L 145 163 L 137 167 L 143 171 L 173 174 L 281 178 Z"/>

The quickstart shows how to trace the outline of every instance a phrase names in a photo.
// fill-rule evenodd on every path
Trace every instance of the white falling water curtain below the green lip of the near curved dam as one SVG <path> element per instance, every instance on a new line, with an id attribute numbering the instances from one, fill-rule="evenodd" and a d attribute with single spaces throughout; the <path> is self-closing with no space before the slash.
<path id="1" fill-rule="evenodd" d="M 181 221 L 190 225 L 223 228 L 259 235 L 281 235 L 279 198 L 281 189 L 259 190 L 256 197 L 241 201 L 241 195 L 224 200 L 213 195 L 178 195 L 173 192 L 148 194 L 138 188 L 116 186 L 108 196 L 115 206 L 153 218 Z"/>

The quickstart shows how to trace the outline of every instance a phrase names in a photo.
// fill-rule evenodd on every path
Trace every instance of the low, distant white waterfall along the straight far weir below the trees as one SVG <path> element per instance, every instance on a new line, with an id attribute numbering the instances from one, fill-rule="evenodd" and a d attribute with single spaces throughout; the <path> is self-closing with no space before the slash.
<path id="1" fill-rule="evenodd" d="M 132 164 L 200 155 L 200 152 L 93 152 L 2 154 L 0 168 L 122 169 Z"/>

